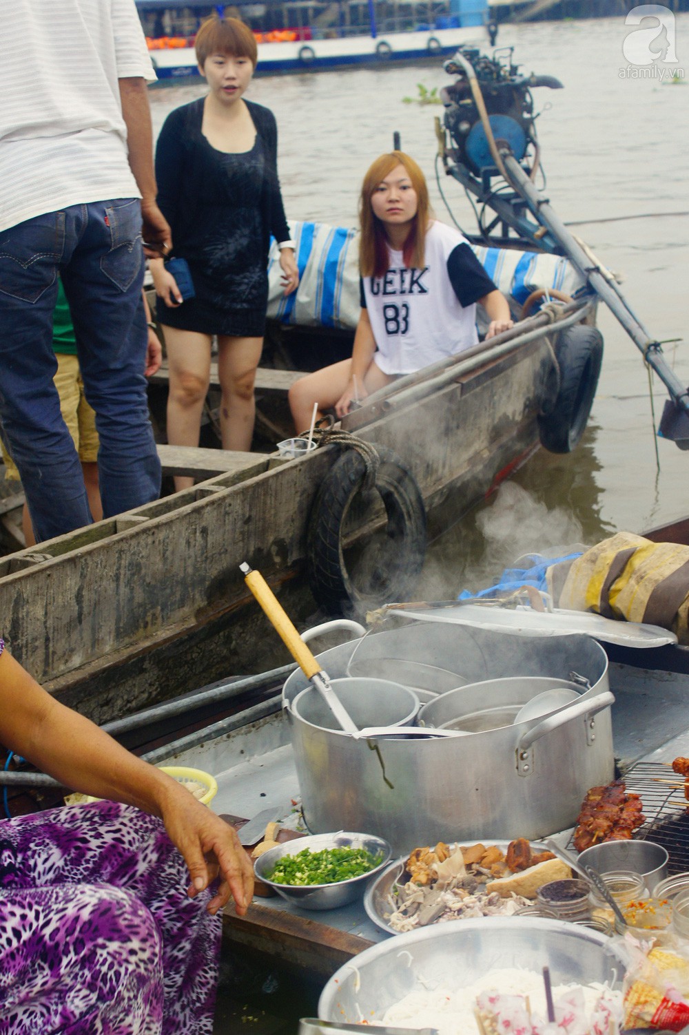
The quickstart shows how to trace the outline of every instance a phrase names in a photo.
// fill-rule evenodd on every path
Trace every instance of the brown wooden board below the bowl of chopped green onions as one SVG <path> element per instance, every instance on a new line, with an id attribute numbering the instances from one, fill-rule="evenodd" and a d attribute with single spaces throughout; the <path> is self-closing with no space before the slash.
<path id="1" fill-rule="evenodd" d="M 317 920 L 256 903 L 246 916 L 239 917 L 230 901 L 225 907 L 223 935 L 234 945 L 246 945 L 322 977 L 331 977 L 352 956 L 374 944 Z"/>

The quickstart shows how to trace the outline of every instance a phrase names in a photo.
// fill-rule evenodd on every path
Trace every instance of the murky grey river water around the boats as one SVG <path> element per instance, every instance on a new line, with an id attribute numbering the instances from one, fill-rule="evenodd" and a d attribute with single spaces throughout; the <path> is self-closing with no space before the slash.
<path id="1" fill-rule="evenodd" d="M 685 334 L 688 316 L 689 86 L 622 78 L 626 31 L 622 18 L 505 25 L 498 41 L 515 48 L 523 70 L 563 82 L 564 90 L 534 91 L 547 196 L 566 220 L 628 217 L 575 233 L 622 274 L 641 322 L 666 341 Z M 689 73 L 689 14 L 677 17 L 677 52 Z M 436 214 L 451 221 L 434 173 L 433 120 L 442 109 L 403 101 L 419 83 L 432 89 L 450 81 L 440 62 L 256 80 L 248 96 L 278 120 L 288 217 L 353 225 L 362 176 L 399 130 L 426 173 Z M 155 131 L 169 111 L 203 92 L 201 84 L 152 91 Z M 457 220 L 472 231 L 459 185 L 448 179 L 442 186 Z M 530 550 L 641 531 L 689 509 L 689 453 L 654 438 L 641 356 L 602 306 L 599 326 L 605 359 L 582 443 L 567 456 L 540 450 L 492 501 L 446 533 L 430 551 L 427 595 L 478 585 Z M 665 354 L 689 382 L 686 341 L 665 346 Z M 658 420 L 666 397 L 658 381 L 654 396 Z"/>

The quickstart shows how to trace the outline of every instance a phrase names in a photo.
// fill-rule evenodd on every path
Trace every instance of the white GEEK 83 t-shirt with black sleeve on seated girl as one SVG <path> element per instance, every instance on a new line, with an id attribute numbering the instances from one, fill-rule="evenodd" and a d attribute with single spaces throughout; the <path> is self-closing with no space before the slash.
<path id="1" fill-rule="evenodd" d="M 434 221 L 426 234 L 425 266 L 409 269 L 389 247 L 384 276 L 362 278 L 383 374 L 411 374 L 476 345 L 476 303 L 495 285 L 458 230 Z"/>

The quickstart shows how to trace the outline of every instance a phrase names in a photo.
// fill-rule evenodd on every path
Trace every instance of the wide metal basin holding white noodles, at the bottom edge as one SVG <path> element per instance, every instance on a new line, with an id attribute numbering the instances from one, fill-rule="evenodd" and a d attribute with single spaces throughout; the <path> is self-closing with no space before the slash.
<path id="1" fill-rule="evenodd" d="M 408 993 L 432 984 L 459 989 L 492 970 L 517 968 L 553 985 L 608 981 L 620 987 L 626 964 L 609 938 L 562 920 L 482 917 L 423 927 L 365 949 L 329 979 L 318 1003 L 324 1021 L 380 1021 Z M 425 1027 L 424 1018 L 409 1022 Z M 373 1029 L 375 1031 L 375 1028 Z"/>

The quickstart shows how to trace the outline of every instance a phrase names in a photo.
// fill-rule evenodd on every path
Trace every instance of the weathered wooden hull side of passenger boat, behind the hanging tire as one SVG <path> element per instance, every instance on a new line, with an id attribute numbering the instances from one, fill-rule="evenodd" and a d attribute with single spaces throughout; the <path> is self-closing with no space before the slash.
<path id="1" fill-rule="evenodd" d="M 457 520 L 538 447 L 550 367 L 545 338 L 527 342 L 426 397 L 390 400 L 356 434 L 408 464 L 431 525 L 449 510 Z M 241 474 L 5 558 L 9 647 L 48 689 L 99 722 L 229 672 L 269 668 L 278 638 L 238 565 L 259 568 L 297 620 L 313 613 L 307 526 L 337 454 L 328 447 L 288 463 L 256 454 Z"/>

